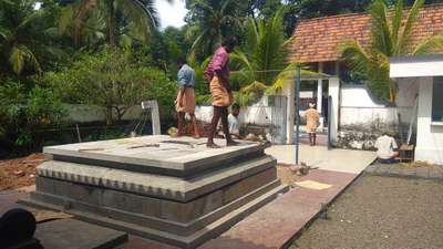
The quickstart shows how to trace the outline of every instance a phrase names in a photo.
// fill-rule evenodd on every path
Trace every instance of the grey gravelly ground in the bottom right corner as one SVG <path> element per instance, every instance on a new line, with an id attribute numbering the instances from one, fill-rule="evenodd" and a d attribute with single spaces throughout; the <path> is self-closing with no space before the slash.
<path id="1" fill-rule="evenodd" d="M 443 181 L 363 175 L 290 249 L 443 248 Z"/>

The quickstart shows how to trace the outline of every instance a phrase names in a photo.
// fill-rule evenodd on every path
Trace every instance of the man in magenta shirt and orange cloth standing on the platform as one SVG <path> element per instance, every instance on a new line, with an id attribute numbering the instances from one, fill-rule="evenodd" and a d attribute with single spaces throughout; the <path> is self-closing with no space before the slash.
<path id="1" fill-rule="evenodd" d="M 222 118 L 223 132 L 225 133 L 228 146 L 237 145 L 229 134 L 228 126 L 228 107 L 233 104 L 234 96 L 230 89 L 229 77 L 229 53 L 234 50 L 236 41 L 226 38 L 218 48 L 205 71 L 206 80 L 209 82 L 210 93 L 213 95 L 214 116 L 210 123 L 207 147 L 217 148 L 214 144 L 214 135 L 217 131 L 218 121 Z"/>

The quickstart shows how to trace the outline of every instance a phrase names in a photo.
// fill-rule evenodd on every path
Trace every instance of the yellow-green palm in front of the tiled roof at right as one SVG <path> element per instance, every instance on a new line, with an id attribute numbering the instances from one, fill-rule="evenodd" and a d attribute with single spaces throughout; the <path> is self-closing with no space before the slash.
<path id="1" fill-rule="evenodd" d="M 368 86 L 382 100 L 395 102 L 396 85 L 390 79 L 389 58 L 426 54 L 443 48 L 443 35 L 424 39 L 411 50 L 411 29 L 419 19 L 424 0 L 415 0 L 409 11 L 399 0 L 390 9 L 384 0 L 374 0 L 369 12 L 372 20 L 371 46 L 364 50 L 356 40 L 341 44 L 342 58 L 351 69 L 368 79 Z M 406 13 L 408 12 L 408 13 Z M 408 14 L 403 24 L 403 18 Z"/>

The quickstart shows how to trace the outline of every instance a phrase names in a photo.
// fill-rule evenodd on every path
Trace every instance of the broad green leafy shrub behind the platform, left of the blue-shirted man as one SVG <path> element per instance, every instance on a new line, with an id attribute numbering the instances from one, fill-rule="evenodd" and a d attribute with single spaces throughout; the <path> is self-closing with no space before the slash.
<path id="1" fill-rule="evenodd" d="M 107 125 L 121 121 L 128 108 L 147 100 L 157 100 L 169 115 L 175 84 L 164 72 L 144 66 L 136 58 L 130 50 L 104 48 L 96 53 L 82 54 L 60 72 L 47 73 L 43 82 L 66 103 L 103 107 Z"/>

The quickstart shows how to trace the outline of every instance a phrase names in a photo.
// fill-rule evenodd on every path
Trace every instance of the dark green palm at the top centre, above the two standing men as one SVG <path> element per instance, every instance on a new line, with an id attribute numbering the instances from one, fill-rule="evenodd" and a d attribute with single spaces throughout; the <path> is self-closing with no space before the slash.
<path id="1" fill-rule="evenodd" d="M 194 0 L 189 8 L 193 24 L 187 28 L 186 38 L 193 40 L 193 54 L 207 58 L 222 43 L 222 38 L 240 27 L 236 0 Z"/>

